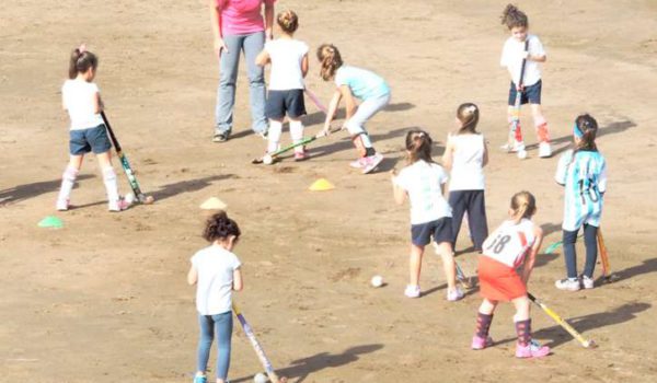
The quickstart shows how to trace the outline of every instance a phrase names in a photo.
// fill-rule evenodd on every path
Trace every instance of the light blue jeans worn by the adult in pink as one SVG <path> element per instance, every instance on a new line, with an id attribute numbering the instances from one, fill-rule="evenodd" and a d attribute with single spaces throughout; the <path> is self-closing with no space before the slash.
<path id="1" fill-rule="evenodd" d="M 217 90 L 217 108 L 215 111 L 215 134 L 230 134 L 235 104 L 235 85 L 240 65 L 240 54 L 244 51 L 250 84 L 251 119 L 253 131 L 266 132 L 265 117 L 265 73 L 264 68 L 255 65 L 255 57 L 265 46 L 265 33 L 250 35 L 227 35 L 223 42 L 228 53 L 222 51 L 219 58 L 219 88 Z"/>

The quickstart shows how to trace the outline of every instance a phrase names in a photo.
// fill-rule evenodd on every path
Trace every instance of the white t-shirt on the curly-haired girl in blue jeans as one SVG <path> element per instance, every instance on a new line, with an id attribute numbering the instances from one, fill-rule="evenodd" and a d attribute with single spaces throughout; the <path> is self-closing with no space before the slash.
<path id="1" fill-rule="evenodd" d="M 242 265 L 238 256 L 221 246 L 211 245 L 196 252 L 192 265 L 198 272 L 198 313 L 215 315 L 231 311 L 233 271 Z"/>

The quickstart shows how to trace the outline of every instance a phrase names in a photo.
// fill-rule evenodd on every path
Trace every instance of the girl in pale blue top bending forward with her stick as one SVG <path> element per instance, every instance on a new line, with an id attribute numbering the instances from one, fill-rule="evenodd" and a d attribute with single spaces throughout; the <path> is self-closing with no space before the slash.
<path id="1" fill-rule="evenodd" d="M 351 141 L 359 155 L 350 166 L 360 169 L 364 174 L 367 174 L 381 163 L 383 155 L 374 150 L 365 124 L 388 105 L 390 88 L 382 78 L 369 70 L 343 65 L 339 51 L 331 44 L 322 44 L 318 48 L 318 59 L 322 66 L 320 72 L 322 79 L 334 80 L 337 86 L 331 98 L 321 135 L 328 135 L 339 102 L 345 98 L 347 116 L 343 129 L 347 129 L 351 135 Z M 354 97 L 360 98 L 362 103 L 357 106 Z"/>

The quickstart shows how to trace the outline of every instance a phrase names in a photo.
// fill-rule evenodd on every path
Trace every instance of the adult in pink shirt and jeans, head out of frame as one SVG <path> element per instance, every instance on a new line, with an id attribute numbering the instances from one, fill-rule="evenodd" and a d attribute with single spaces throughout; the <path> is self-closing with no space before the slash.
<path id="1" fill-rule="evenodd" d="M 268 127 L 265 117 L 265 76 L 263 67 L 255 65 L 255 57 L 263 50 L 265 38 L 272 38 L 276 0 L 209 1 L 215 51 L 219 57 L 220 71 L 212 140 L 227 141 L 232 130 L 240 51 L 244 51 L 249 73 L 251 128 L 266 137 Z"/>

